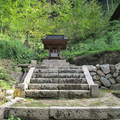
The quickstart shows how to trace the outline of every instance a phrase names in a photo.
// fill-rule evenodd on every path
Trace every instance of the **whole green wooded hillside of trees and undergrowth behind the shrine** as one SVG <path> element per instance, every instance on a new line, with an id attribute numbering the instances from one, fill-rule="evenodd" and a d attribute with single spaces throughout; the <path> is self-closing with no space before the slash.
<path id="1" fill-rule="evenodd" d="M 0 57 L 16 63 L 48 56 L 41 38 L 65 35 L 62 56 L 120 50 L 120 22 L 109 19 L 119 0 L 1 0 Z"/>

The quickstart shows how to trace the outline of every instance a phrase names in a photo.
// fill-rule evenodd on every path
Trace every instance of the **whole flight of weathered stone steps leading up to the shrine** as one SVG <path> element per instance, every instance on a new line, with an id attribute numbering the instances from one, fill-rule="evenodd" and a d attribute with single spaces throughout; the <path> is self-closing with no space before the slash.
<path id="1" fill-rule="evenodd" d="M 36 65 L 29 78 L 30 80 L 27 80 L 29 81 L 27 82 L 28 87 L 25 89 L 25 97 L 91 97 L 90 85 L 82 66 L 69 65 L 65 60 L 44 60 Z"/>

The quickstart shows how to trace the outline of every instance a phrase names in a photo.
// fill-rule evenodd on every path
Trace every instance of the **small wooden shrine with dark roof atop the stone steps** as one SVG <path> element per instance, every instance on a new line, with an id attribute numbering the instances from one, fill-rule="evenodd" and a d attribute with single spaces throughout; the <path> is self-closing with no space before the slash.
<path id="1" fill-rule="evenodd" d="M 44 49 L 49 50 L 49 59 L 60 59 L 61 50 L 65 50 L 68 42 L 68 38 L 64 35 L 46 35 L 41 39 L 44 44 Z"/>

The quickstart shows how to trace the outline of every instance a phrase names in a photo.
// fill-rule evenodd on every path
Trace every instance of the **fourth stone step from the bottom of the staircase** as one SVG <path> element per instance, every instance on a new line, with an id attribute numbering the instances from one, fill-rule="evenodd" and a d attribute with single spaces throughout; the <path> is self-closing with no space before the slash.
<path id="1" fill-rule="evenodd" d="M 85 78 L 83 73 L 33 73 L 32 78 Z"/>

